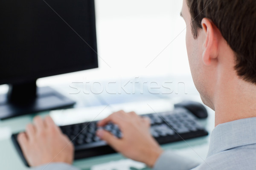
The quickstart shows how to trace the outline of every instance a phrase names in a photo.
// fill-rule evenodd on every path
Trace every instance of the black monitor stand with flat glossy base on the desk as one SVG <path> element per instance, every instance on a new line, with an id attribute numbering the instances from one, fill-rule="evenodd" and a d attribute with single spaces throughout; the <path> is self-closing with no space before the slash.
<path id="1" fill-rule="evenodd" d="M 0 95 L 0 119 L 29 113 L 72 107 L 75 102 L 50 87 L 39 88 L 36 80 L 9 85 Z"/>

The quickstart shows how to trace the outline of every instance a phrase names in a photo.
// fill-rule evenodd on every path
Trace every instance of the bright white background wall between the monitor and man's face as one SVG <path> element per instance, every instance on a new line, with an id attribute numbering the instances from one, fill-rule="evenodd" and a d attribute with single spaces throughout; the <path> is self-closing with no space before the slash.
<path id="1" fill-rule="evenodd" d="M 38 85 L 190 75 L 182 0 L 96 0 L 99 68 L 39 79 Z"/>

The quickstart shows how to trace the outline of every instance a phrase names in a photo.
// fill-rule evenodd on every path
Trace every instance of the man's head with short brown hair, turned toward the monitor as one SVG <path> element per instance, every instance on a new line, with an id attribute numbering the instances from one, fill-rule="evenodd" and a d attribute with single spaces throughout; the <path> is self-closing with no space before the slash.
<path id="1" fill-rule="evenodd" d="M 256 84 L 256 1 L 183 0 L 186 46 L 195 86 L 214 109 L 225 79 Z"/>

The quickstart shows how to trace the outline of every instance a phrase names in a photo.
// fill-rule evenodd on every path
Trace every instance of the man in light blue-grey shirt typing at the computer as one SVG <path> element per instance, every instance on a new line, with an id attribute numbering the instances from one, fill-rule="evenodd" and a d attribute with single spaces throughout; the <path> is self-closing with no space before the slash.
<path id="1" fill-rule="evenodd" d="M 148 120 L 133 112 L 119 111 L 99 122 L 99 126 L 110 121 L 119 125 L 122 139 L 105 130 L 97 135 L 124 156 L 155 170 L 254 170 L 256 1 L 183 0 L 181 16 L 188 27 L 186 48 L 193 81 L 203 102 L 215 111 L 206 160 L 198 164 L 163 152 L 148 131 Z M 76 169 L 70 165 L 73 145 L 49 117 L 36 117 L 18 141 L 32 167 Z"/>

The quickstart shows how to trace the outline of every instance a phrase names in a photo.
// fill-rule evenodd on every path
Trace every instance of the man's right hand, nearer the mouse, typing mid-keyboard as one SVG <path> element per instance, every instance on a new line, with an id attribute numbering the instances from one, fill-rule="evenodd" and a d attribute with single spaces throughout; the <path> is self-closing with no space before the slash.
<path id="1" fill-rule="evenodd" d="M 150 134 L 149 119 L 140 117 L 134 112 L 119 111 L 103 119 L 98 125 L 104 126 L 108 122 L 119 126 L 122 138 L 118 139 L 108 131 L 100 129 L 97 131 L 97 135 L 101 139 L 124 156 L 144 162 L 149 167 L 154 166 L 163 150 Z"/>

